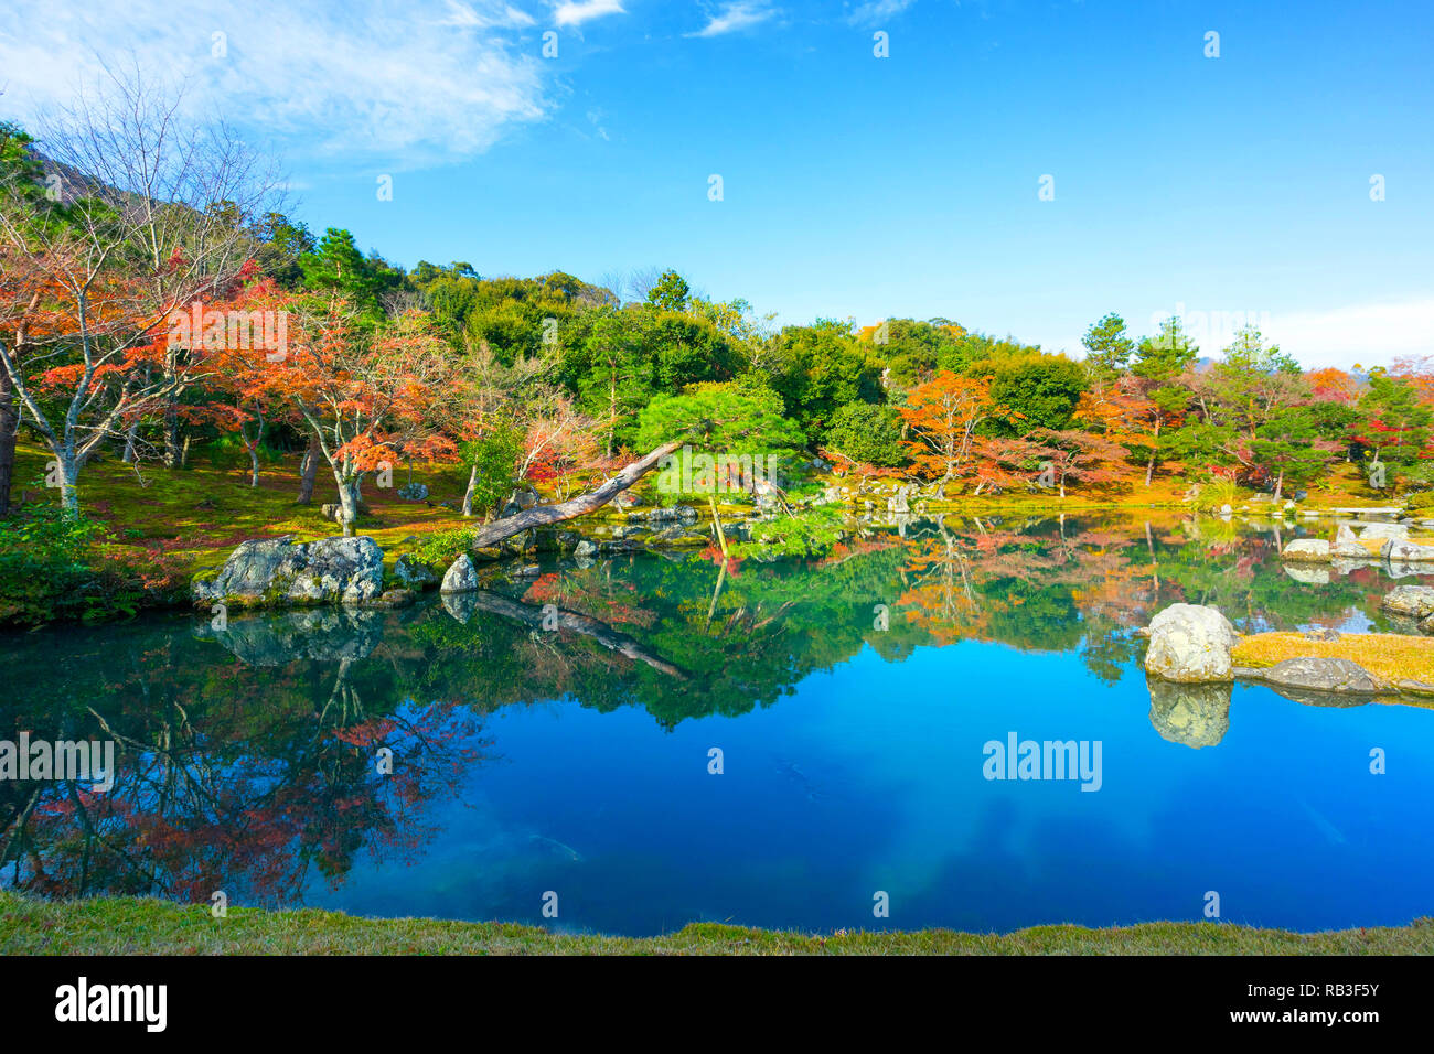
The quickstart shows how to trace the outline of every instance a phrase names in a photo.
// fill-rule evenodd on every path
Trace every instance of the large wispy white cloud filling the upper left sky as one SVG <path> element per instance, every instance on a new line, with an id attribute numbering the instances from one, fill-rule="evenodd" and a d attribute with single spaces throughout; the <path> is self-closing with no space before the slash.
<path id="1" fill-rule="evenodd" d="M 548 106 L 543 69 L 515 54 L 532 19 L 500 0 L 272 6 L 53 0 L 0 23 L 0 113 L 32 122 L 102 63 L 182 80 L 194 112 L 218 110 L 290 152 L 397 169 L 470 156 Z M 217 53 L 218 52 L 218 53 Z M 63 70 L 59 75 L 57 70 Z M 7 83 L 6 83 L 7 82 Z"/>

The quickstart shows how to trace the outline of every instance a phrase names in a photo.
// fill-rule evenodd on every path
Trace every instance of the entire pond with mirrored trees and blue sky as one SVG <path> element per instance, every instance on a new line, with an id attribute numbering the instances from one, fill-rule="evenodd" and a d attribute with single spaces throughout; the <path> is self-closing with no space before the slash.
<path id="1" fill-rule="evenodd" d="M 116 760 L 103 792 L 0 782 L 0 885 L 628 935 L 1434 913 L 1434 713 L 1147 685 L 1133 630 L 1177 601 L 1398 630 L 1377 568 L 1286 574 L 1279 545 L 946 518 L 809 564 L 564 559 L 399 611 L 10 635 L 0 739 Z"/>

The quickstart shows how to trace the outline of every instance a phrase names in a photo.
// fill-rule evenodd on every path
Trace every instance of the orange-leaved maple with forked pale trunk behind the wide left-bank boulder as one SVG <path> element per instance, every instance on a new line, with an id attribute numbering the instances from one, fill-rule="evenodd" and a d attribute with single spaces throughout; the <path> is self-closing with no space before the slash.
<path id="1" fill-rule="evenodd" d="M 452 364 L 424 318 L 410 313 L 371 326 L 341 298 L 277 291 L 247 305 L 282 311 L 287 346 L 227 356 L 227 380 L 287 404 L 317 439 L 338 486 L 346 536 L 354 533 L 366 475 L 391 469 L 402 456 L 453 453 L 453 442 L 433 426 Z"/>

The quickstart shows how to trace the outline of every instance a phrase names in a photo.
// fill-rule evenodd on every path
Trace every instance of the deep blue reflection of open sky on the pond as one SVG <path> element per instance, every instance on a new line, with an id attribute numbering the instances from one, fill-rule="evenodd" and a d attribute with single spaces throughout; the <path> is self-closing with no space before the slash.
<path id="1" fill-rule="evenodd" d="M 1319 929 L 1401 924 L 1434 889 L 1434 716 L 1306 707 L 1236 687 L 1192 749 L 1152 726 L 1137 668 L 1116 685 L 1074 652 L 999 644 L 870 650 L 796 695 L 665 733 L 632 708 L 508 708 L 503 760 L 473 771 L 412 866 L 356 870 L 315 903 L 373 915 L 650 934 L 684 922 L 1011 929 L 1223 918 Z M 1101 740 L 1104 786 L 987 782 L 1008 731 Z M 707 750 L 726 773 L 707 773 Z M 1368 773 L 1369 749 L 1388 774 Z"/>

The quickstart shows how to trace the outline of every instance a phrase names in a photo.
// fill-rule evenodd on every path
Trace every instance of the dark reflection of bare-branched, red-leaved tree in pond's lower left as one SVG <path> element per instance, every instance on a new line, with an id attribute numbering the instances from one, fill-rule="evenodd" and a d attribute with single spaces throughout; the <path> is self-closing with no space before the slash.
<path id="1" fill-rule="evenodd" d="M 254 627 L 244 622 L 231 625 L 252 644 Z M 37 691 L 22 685 L 0 710 L 10 739 L 29 728 L 32 739 L 116 744 L 108 793 L 73 782 L 4 787 L 0 865 L 9 885 L 66 896 L 208 902 L 224 891 L 297 902 L 313 872 L 341 882 L 363 850 L 376 860 L 412 856 L 433 833 L 427 803 L 452 793 L 478 760 L 475 714 L 390 694 L 371 675 L 379 664 L 217 664 L 185 637 L 132 640 L 123 671 L 112 671 L 102 651 L 72 655 L 66 667 L 90 688 L 75 694 L 83 701 L 46 700 L 44 678 L 32 675 Z M 393 751 L 391 774 L 377 770 L 380 747 Z"/>

